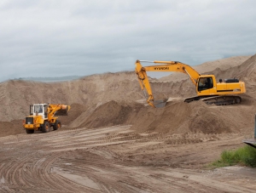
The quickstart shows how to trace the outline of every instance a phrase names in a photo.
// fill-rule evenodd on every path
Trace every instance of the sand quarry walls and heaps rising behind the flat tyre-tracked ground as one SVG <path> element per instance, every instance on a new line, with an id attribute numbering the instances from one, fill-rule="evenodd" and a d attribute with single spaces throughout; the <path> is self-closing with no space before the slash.
<path id="1" fill-rule="evenodd" d="M 195 95 L 195 86 L 188 77 L 182 77 L 182 73 L 178 73 L 180 79 L 177 74 L 160 81 L 152 79 L 155 96 L 180 98 L 162 109 L 138 103 L 144 101 L 144 97 L 134 71 L 92 75 L 68 82 L 2 82 L 0 133 L 2 136 L 24 133 L 21 120 L 28 115 L 29 105 L 33 103 L 71 105 L 69 116 L 61 117 L 67 128 L 131 124 L 132 129 L 138 131 L 162 133 L 230 133 L 250 129 L 256 104 L 255 64 L 256 55 L 253 55 L 195 66 L 201 74 L 214 74 L 223 79 L 238 77 L 246 82 L 247 94 L 243 94 L 242 104 L 230 106 L 205 105 L 201 101 L 184 103 L 182 98 Z"/>

